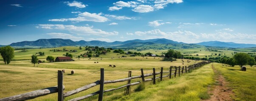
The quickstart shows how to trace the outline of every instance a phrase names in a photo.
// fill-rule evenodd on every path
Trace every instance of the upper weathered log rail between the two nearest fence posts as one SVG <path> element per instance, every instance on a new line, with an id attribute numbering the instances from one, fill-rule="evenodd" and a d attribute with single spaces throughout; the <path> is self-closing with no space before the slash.
<path id="1" fill-rule="evenodd" d="M 71 96 L 71 95 L 73 95 L 73 94 L 82 92 L 82 91 L 84 91 L 84 90 L 87 90 L 87 89 L 92 88 L 92 87 L 94 87 L 94 86 L 96 86 L 96 85 L 99 85 L 99 84 L 100 84 L 100 81 L 98 80 L 98 81 L 93 82 L 93 83 L 91 83 L 91 84 L 89 84 L 89 85 L 85 85 L 85 86 L 83 86 L 83 87 L 81 87 L 81 88 L 77 88 L 77 89 L 75 89 L 75 90 L 66 92 L 66 93 L 64 93 L 64 97 L 68 97 L 68 96 Z"/>

